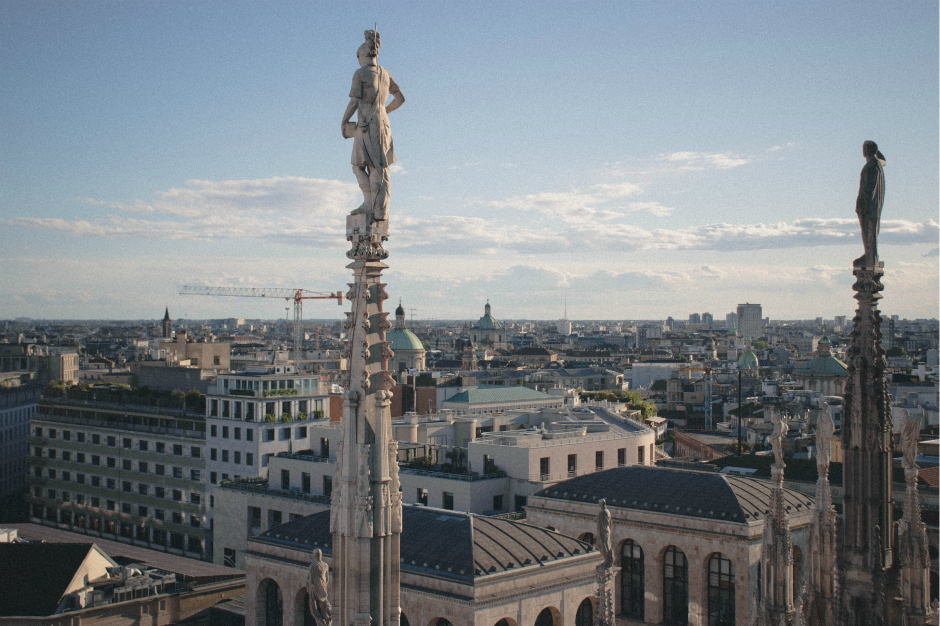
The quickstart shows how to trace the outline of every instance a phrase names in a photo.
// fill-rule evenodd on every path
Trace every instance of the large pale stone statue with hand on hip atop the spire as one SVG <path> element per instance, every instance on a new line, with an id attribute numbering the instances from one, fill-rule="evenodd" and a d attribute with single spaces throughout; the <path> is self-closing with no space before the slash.
<path id="1" fill-rule="evenodd" d="M 342 133 L 344 139 L 353 139 L 353 173 L 363 197 L 353 215 L 365 214 L 371 224 L 388 219 L 388 170 L 396 161 L 388 114 L 405 103 L 405 96 L 388 70 L 378 64 L 382 46 L 378 31 L 365 31 L 365 39 L 356 54 L 360 67 L 353 74 Z M 353 113 L 357 113 L 356 123 L 349 121 Z"/>

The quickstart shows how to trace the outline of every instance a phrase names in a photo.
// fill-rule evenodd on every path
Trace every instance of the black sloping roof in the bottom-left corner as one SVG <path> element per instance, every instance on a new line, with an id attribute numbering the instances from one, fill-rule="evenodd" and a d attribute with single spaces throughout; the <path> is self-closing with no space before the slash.
<path id="1" fill-rule="evenodd" d="M 0 616 L 55 613 L 91 548 L 90 543 L 0 544 Z"/>

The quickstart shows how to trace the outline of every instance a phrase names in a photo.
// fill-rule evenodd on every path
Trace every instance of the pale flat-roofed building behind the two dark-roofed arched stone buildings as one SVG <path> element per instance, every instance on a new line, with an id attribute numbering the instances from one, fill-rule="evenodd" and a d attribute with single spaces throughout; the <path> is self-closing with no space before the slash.
<path id="1" fill-rule="evenodd" d="M 304 454 L 268 459 L 267 480 L 226 481 L 215 489 L 214 562 L 244 567 L 247 538 L 326 510 L 336 470 L 338 424 L 311 425 Z M 524 515 L 529 496 L 559 481 L 614 467 L 653 465 L 655 432 L 602 407 L 513 411 L 474 417 L 408 414 L 393 422 L 405 504 L 494 515 Z M 409 466 L 464 451 L 468 472 Z"/>

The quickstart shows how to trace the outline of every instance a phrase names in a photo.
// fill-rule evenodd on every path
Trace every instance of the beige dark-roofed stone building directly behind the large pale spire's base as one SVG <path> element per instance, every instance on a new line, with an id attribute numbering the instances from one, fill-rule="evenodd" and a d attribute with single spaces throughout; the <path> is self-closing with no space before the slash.
<path id="1" fill-rule="evenodd" d="M 328 511 L 249 540 L 245 625 L 312 623 L 311 553 L 330 562 Z M 593 626 L 601 556 L 571 537 L 504 519 L 405 506 L 402 626 Z"/>

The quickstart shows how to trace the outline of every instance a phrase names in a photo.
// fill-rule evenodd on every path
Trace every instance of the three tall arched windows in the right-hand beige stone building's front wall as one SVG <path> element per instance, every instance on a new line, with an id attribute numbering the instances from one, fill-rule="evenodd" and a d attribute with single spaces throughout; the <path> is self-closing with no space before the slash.
<path id="1" fill-rule="evenodd" d="M 620 614 L 643 621 L 646 614 L 646 583 L 643 549 L 628 539 L 620 549 Z M 662 623 L 689 623 L 689 562 L 675 546 L 663 553 Z M 734 626 L 734 565 L 721 553 L 708 559 L 708 626 Z"/>

